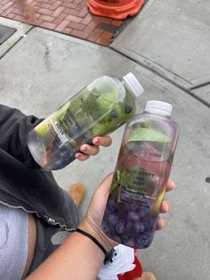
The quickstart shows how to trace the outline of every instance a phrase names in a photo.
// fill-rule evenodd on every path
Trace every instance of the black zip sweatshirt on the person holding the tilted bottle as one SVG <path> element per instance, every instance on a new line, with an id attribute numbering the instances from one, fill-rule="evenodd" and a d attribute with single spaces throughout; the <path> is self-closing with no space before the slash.
<path id="1" fill-rule="evenodd" d="M 78 222 L 75 205 L 67 213 L 64 192 L 52 172 L 41 169 L 28 150 L 28 132 L 40 121 L 0 105 L 0 202 L 72 228 Z"/>

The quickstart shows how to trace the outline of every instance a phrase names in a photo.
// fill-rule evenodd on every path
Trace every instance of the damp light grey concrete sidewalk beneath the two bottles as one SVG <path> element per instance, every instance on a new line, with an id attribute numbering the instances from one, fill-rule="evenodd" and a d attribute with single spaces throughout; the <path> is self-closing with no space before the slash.
<path id="1" fill-rule="evenodd" d="M 149 0 L 110 47 L 33 28 L 0 60 L 0 103 L 27 114 L 45 117 L 93 78 L 128 71 L 144 87 L 139 112 L 149 99 L 173 104 L 182 133 L 171 174 L 177 188 L 166 194 L 172 210 L 166 229 L 138 253 L 158 280 L 210 279 L 209 12 L 207 1 Z M 81 216 L 115 167 L 123 130 L 96 157 L 54 172 L 64 188 L 77 181 L 87 186 Z"/>

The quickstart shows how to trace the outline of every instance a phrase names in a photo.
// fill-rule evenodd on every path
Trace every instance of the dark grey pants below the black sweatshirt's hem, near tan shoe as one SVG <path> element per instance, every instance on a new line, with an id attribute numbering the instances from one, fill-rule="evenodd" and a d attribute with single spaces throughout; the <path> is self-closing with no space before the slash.
<path id="1" fill-rule="evenodd" d="M 67 192 L 65 192 L 65 207 L 64 210 L 69 212 L 71 215 L 71 220 L 74 222 L 73 228 L 77 227 L 78 224 L 78 214 L 77 207 L 73 202 L 72 198 Z M 35 254 L 32 260 L 31 266 L 28 271 L 28 276 L 47 259 L 53 251 L 55 251 L 60 245 L 52 243 L 52 236 L 60 233 L 66 232 L 65 229 L 60 226 L 51 226 L 44 222 L 41 218 L 35 217 L 36 220 L 36 247 Z"/>

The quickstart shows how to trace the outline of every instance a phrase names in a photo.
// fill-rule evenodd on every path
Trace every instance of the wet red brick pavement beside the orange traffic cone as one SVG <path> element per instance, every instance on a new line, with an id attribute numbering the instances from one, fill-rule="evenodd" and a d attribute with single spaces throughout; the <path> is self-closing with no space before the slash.
<path id="1" fill-rule="evenodd" d="M 0 16 L 109 45 L 126 21 L 93 16 L 86 0 L 0 0 Z"/>

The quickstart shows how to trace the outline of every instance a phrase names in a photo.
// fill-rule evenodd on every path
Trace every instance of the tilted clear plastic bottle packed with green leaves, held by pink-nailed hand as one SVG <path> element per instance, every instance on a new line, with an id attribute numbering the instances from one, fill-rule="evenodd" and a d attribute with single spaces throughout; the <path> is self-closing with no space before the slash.
<path id="1" fill-rule="evenodd" d="M 62 169 L 75 160 L 81 144 L 105 136 L 130 119 L 141 84 L 132 73 L 121 80 L 102 76 L 85 86 L 28 134 L 28 148 L 44 169 Z"/>

